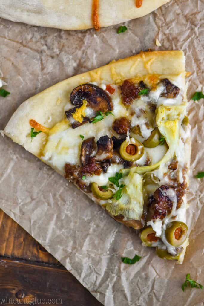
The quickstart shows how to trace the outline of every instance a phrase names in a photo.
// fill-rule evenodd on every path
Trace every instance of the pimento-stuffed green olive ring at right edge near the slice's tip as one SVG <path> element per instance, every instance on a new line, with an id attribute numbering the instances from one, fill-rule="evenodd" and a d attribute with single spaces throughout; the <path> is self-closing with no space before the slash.
<path id="1" fill-rule="evenodd" d="M 179 247 L 187 238 L 188 227 L 181 221 L 173 221 L 165 230 L 166 240 L 173 246 Z"/>

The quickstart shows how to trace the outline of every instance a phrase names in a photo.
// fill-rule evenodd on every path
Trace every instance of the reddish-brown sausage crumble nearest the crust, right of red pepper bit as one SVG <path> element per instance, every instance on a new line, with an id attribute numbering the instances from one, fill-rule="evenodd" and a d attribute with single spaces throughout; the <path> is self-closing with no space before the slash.
<path id="1" fill-rule="evenodd" d="M 132 101 L 138 97 L 139 87 L 129 80 L 125 80 L 119 88 L 121 89 L 121 96 L 124 105 L 130 105 Z"/>

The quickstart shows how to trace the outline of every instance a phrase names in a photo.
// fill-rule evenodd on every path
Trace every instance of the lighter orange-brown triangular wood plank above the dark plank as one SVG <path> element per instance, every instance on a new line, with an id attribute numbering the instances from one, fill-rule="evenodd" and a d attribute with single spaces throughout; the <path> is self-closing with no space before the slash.
<path id="1" fill-rule="evenodd" d="M 0 210 L 0 256 L 57 264 L 49 254 L 20 225 Z"/>

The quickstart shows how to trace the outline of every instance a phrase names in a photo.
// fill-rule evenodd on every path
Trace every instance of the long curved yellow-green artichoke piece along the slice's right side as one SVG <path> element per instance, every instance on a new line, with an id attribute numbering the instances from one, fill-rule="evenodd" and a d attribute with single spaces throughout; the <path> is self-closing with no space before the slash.
<path id="1" fill-rule="evenodd" d="M 156 123 L 161 135 L 165 137 L 166 143 L 169 146 L 164 157 L 156 164 L 142 167 L 135 167 L 134 171 L 139 174 L 144 174 L 147 171 L 153 171 L 158 168 L 161 163 L 166 163 L 174 157 L 176 146 L 179 141 L 179 116 L 184 112 L 184 106 L 159 106 L 156 116 Z M 133 169 L 133 168 L 132 168 Z M 129 169 L 121 170 L 123 174 L 128 174 Z"/>

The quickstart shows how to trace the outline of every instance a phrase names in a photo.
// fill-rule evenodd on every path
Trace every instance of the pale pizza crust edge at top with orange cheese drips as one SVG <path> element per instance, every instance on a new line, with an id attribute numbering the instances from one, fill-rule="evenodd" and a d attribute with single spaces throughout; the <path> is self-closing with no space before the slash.
<path id="1" fill-rule="evenodd" d="M 143 0 L 140 8 L 136 8 L 135 0 L 100 0 L 99 22 L 107 27 L 142 17 L 170 0 Z M 80 30 L 93 28 L 93 0 L 1 0 L 0 17 L 28 24 Z"/>

